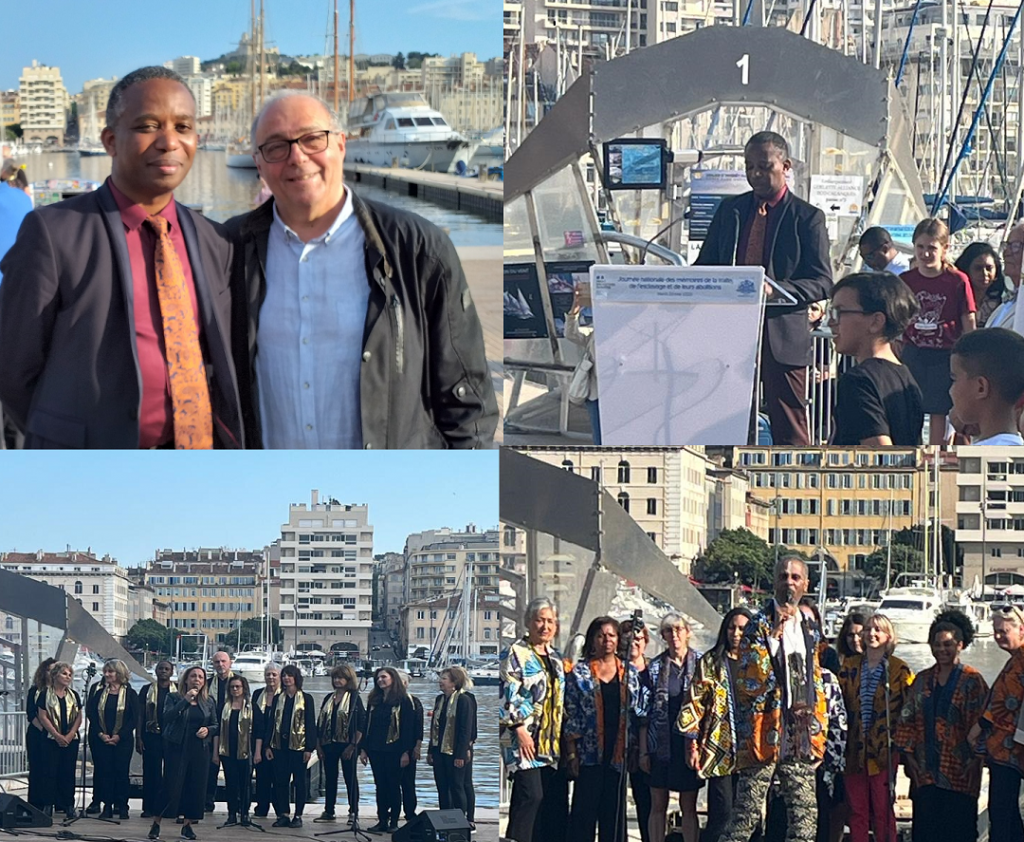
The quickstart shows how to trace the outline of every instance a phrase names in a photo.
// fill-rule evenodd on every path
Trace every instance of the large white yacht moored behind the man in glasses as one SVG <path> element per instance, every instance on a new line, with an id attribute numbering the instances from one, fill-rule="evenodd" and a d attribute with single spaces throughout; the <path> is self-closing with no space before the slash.
<path id="1" fill-rule="evenodd" d="M 447 172 L 469 145 L 422 93 L 375 93 L 352 102 L 345 158 L 375 167 L 398 166 Z"/>

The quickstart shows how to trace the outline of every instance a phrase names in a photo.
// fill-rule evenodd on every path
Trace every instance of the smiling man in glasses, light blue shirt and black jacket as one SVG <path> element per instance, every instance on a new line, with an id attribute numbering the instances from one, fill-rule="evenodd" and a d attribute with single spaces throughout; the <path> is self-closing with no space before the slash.
<path id="1" fill-rule="evenodd" d="M 497 402 L 447 237 L 345 186 L 315 97 L 269 100 L 253 151 L 273 199 L 227 223 L 249 446 L 488 447 Z"/>

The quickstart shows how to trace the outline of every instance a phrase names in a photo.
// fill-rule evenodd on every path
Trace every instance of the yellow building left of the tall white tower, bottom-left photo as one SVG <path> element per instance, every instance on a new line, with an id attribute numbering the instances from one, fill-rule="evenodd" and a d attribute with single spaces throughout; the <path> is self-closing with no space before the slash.
<path id="1" fill-rule="evenodd" d="M 167 602 L 171 628 L 202 632 L 217 644 L 244 621 L 260 616 L 264 566 L 262 550 L 164 549 L 156 552 L 143 581 Z"/>

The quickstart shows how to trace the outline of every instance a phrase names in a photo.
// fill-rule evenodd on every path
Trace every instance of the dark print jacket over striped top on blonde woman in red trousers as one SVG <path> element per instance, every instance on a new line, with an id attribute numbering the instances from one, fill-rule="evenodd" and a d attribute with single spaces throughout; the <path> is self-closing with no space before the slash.
<path id="1" fill-rule="evenodd" d="M 888 675 L 889 716 L 886 716 L 887 679 L 884 676 L 874 690 L 870 726 L 865 734 L 860 708 L 860 672 L 866 658 L 866 655 L 847 658 L 839 674 L 850 725 L 850 735 L 846 744 L 847 774 L 863 772 L 881 774 L 886 770 L 886 763 L 895 760 L 899 749 L 890 745 L 890 736 L 896 735 L 896 727 L 899 725 L 903 708 L 910 700 L 910 685 L 913 683 L 913 671 L 905 662 L 890 655 L 886 659 L 888 663 L 885 667 Z"/>

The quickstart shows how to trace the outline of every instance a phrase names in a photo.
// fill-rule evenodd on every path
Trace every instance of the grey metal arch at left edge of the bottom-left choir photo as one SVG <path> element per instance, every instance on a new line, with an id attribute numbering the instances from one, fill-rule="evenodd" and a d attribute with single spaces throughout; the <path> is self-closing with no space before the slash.
<path id="1" fill-rule="evenodd" d="M 140 678 L 152 681 L 150 674 L 122 646 L 96 619 L 71 594 L 59 588 L 0 570 L 0 612 L 26 620 L 35 620 L 62 632 L 54 657 L 58 661 L 74 662 L 79 646 L 90 651 L 100 651 L 106 658 L 119 658 L 128 669 Z M 27 669 L 27 665 L 24 669 Z M 29 677 L 25 675 L 26 684 Z"/>

